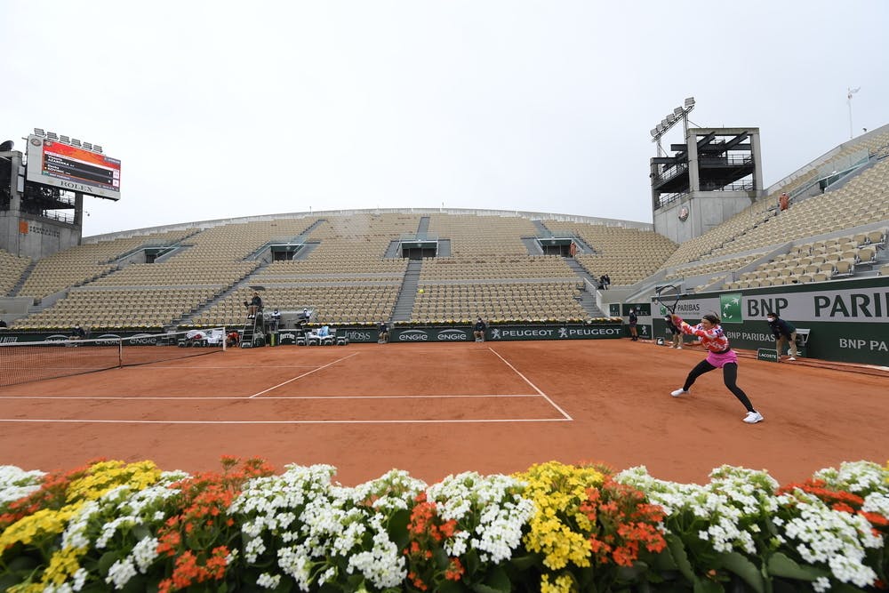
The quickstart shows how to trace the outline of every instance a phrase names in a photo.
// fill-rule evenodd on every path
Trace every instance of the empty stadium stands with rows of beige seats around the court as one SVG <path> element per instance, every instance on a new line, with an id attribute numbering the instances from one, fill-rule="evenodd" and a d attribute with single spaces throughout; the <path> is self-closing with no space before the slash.
<path id="1" fill-rule="evenodd" d="M 239 326 L 261 290 L 268 308 L 309 308 L 325 325 L 582 321 L 603 315 L 603 275 L 628 298 L 662 282 L 711 291 L 886 276 L 887 156 L 889 129 L 847 142 L 681 245 L 645 223 L 407 209 L 140 229 L 37 261 L 0 251 L 0 291 L 33 302 L 4 319 L 20 330 Z M 552 237 L 570 254 L 548 251 Z"/>

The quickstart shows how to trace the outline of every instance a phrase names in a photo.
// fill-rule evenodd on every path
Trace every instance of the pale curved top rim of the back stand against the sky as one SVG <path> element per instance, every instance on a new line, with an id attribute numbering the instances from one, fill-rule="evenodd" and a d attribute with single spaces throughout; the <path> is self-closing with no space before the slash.
<path id="1" fill-rule="evenodd" d="M 114 233 L 105 233 L 103 235 L 84 236 L 84 243 L 97 243 L 99 241 L 110 241 L 113 239 L 121 239 L 129 236 L 148 235 L 151 233 L 162 233 L 170 230 L 179 230 L 182 228 L 212 228 L 220 227 L 226 224 L 237 222 L 255 222 L 259 220 L 280 220 L 286 218 L 323 218 L 324 216 L 351 216 L 361 213 L 403 213 L 403 214 L 457 214 L 457 215 L 475 215 L 475 216 L 514 216 L 527 218 L 532 220 L 560 220 L 568 222 L 581 222 L 586 224 L 600 224 L 606 227 L 623 227 L 638 228 L 640 230 L 654 230 L 651 222 L 638 222 L 636 220 L 618 220 L 598 218 L 595 216 L 581 216 L 578 214 L 560 214 L 556 212 L 528 212 L 522 210 L 482 210 L 473 208 L 365 208 L 353 210 L 327 210 L 313 212 L 287 212 L 278 214 L 260 214 L 256 216 L 242 216 L 215 220 L 196 220 L 191 222 L 177 222 L 175 224 L 167 224 L 158 227 L 131 228 L 129 230 L 120 230 Z"/>

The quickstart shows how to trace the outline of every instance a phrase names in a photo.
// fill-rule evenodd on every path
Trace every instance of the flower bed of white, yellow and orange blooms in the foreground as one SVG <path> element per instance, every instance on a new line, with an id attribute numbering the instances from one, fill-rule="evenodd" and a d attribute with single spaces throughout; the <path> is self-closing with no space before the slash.
<path id="1" fill-rule="evenodd" d="M 535 465 L 355 487 L 332 466 L 219 472 L 96 461 L 0 467 L 0 590 L 853 591 L 885 589 L 889 467 L 803 484 L 723 466 Z"/>

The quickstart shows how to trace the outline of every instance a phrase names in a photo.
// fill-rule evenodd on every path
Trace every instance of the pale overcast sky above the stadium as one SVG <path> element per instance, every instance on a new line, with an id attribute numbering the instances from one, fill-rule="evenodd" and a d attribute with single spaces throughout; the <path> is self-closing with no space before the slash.
<path id="1" fill-rule="evenodd" d="M 649 130 L 759 127 L 771 185 L 889 124 L 889 2 L 0 0 L 0 141 L 122 162 L 84 236 L 279 212 L 651 222 Z M 664 145 L 682 140 L 674 127 Z"/>

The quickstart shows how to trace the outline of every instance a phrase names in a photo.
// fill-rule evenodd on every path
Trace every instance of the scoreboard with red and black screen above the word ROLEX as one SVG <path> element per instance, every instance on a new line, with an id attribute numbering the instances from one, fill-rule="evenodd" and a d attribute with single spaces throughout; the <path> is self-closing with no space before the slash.
<path id="1" fill-rule="evenodd" d="M 120 199 L 120 161 L 58 140 L 28 136 L 28 181 Z"/>

